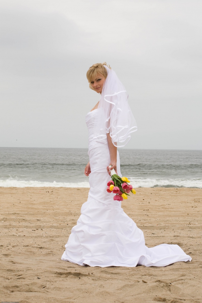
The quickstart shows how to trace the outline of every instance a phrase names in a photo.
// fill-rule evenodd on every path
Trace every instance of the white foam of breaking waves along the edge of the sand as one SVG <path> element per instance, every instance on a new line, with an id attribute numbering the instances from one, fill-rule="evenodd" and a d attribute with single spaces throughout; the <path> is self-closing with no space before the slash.
<path id="1" fill-rule="evenodd" d="M 157 178 L 129 178 L 131 185 L 137 187 L 197 187 L 202 188 L 202 179 L 157 179 Z M 0 180 L 0 187 L 85 187 L 89 188 L 89 182 L 41 182 L 25 180 Z"/>

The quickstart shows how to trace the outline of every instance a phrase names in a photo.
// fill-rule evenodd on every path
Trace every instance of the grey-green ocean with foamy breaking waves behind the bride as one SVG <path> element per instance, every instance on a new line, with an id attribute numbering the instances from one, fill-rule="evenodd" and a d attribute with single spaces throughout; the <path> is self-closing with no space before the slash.
<path id="1" fill-rule="evenodd" d="M 118 149 L 133 187 L 202 188 L 201 150 Z M 90 187 L 87 148 L 0 148 L 0 187 Z"/>

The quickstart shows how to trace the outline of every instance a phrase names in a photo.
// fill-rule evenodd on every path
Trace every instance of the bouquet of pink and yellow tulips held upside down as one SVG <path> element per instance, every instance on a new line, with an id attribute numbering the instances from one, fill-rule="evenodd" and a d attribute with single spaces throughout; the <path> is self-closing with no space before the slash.
<path id="1" fill-rule="evenodd" d="M 127 199 L 129 192 L 131 191 L 133 194 L 136 194 L 136 191 L 132 187 L 132 185 L 128 185 L 130 181 L 126 177 L 119 177 L 115 170 L 112 169 L 111 173 L 111 181 L 107 182 L 107 192 L 113 192 L 114 200 L 123 201 L 123 199 Z"/>

